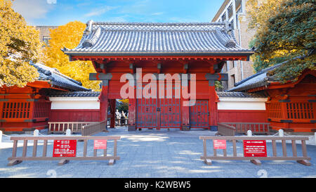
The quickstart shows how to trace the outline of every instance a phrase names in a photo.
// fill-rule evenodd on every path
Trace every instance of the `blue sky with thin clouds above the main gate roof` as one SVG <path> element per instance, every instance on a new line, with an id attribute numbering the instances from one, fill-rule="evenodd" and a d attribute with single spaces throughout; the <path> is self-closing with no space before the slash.
<path id="1" fill-rule="evenodd" d="M 210 22 L 224 0 L 15 0 L 29 25 L 104 22 Z"/>

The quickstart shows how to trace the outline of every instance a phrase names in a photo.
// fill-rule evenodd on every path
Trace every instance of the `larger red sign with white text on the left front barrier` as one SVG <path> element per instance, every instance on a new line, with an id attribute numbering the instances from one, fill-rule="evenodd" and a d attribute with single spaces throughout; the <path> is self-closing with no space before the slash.
<path id="1" fill-rule="evenodd" d="M 76 157 L 77 140 L 55 140 L 53 158 Z"/>

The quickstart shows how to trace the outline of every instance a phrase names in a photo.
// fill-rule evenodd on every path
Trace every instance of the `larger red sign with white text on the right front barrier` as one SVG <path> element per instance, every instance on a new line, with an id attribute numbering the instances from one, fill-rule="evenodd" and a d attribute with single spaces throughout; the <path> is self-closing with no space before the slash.
<path id="1" fill-rule="evenodd" d="M 244 140 L 244 157 L 266 157 L 267 143 L 265 140 Z"/>

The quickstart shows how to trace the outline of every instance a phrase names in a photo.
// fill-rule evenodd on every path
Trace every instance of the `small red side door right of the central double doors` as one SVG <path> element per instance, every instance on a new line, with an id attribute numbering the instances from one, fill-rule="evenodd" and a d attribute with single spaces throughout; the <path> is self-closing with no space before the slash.
<path id="1" fill-rule="evenodd" d="M 208 100 L 197 100 L 190 107 L 190 128 L 209 128 Z"/>

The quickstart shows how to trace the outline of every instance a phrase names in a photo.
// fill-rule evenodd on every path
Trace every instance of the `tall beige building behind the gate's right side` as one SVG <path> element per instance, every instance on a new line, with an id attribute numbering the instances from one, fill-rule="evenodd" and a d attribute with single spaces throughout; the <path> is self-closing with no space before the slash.
<path id="1" fill-rule="evenodd" d="M 254 37 L 256 30 L 249 30 L 249 19 L 246 18 L 246 0 L 225 0 L 220 9 L 214 16 L 212 22 L 223 22 L 228 20 L 235 34 L 235 39 L 239 46 L 249 49 L 249 42 Z M 254 75 L 253 62 L 234 60 L 227 61 L 223 66 L 222 72 L 228 73 L 228 82 L 223 83 L 223 89 L 231 89 L 236 82 Z"/>

